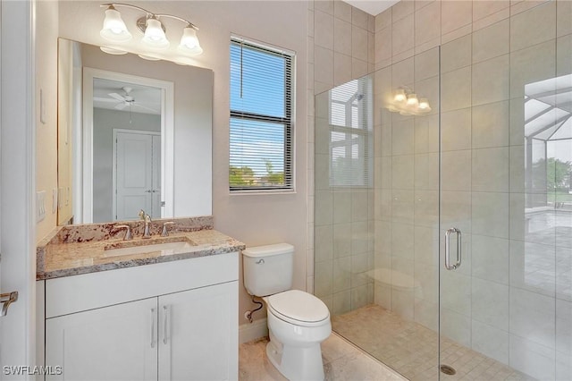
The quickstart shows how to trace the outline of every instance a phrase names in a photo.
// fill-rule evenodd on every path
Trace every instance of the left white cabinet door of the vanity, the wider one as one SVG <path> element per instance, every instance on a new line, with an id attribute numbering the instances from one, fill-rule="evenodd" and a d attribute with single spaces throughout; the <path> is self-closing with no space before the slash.
<path id="1" fill-rule="evenodd" d="M 157 318 L 150 298 L 46 319 L 46 379 L 156 380 Z"/>

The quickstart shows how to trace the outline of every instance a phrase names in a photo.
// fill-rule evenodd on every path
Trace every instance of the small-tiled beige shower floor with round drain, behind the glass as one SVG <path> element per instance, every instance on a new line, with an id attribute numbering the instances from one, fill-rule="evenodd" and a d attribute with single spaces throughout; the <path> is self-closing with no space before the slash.
<path id="1" fill-rule="evenodd" d="M 377 305 L 332 317 L 332 330 L 411 381 L 438 379 L 435 332 Z M 442 380 L 534 380 L 476 351 L 442 341 L 442 364 L 456 374 Z"/>

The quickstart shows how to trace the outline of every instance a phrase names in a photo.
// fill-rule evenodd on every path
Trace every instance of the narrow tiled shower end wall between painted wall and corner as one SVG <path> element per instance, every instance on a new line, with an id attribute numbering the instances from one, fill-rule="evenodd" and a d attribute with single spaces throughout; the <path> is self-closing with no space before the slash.
<path id="1" fill-rule="evenodd" d="M 324 158 L 328 140 L 315 136 L 329 139 L 328 131 L 315 128 L 314 96 L 374 71 L 374 16 L 337 0 L 309 1 L 308 25 L 308 158 Z M 331 189 L 328 172 L 327 160 L 308 165 L 307 289 L 341 313 L 374 298 L 364 276 L 374 266 L 374 192 Z"/>

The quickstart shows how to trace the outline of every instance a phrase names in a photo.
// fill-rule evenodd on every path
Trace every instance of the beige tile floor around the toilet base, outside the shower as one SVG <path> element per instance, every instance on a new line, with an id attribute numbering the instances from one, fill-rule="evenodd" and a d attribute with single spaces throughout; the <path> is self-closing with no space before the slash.
<path id="1" fill-rule="evenodd" d="M 239 379 L 241 381 L 284 381 L 266 358 L 268 339 L 242 343 L 239 348 Z M 403 381 L 404 377 L 366 355 L 351 343 L 332 333 L 322 343 L 326 381 Z"/>

